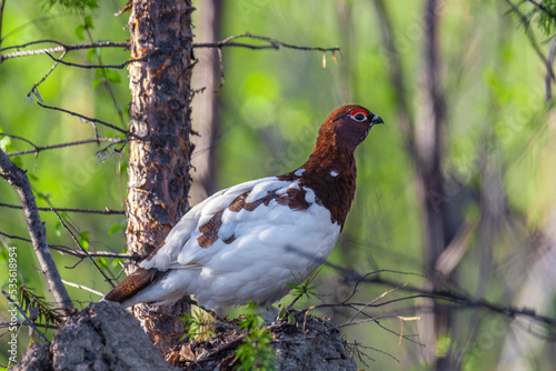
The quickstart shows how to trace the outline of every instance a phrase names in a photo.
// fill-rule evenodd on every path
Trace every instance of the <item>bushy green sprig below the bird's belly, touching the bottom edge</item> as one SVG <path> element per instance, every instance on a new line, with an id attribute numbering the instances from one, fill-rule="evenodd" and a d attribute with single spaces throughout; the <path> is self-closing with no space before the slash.
<path id="1" fill-rule="evenodd" d="M 244 342 L 236 350 L 236 358 L 239 364 L 235 368 L 239 371 L 249 370 L 274 370 L 276 363 L 275 351 L 271 345 L 272 335 L 265 328 L 265 320 L 255 304 L 249 303 L 251 314 L 239 322 L 239 328 L 245 330 Z"/>

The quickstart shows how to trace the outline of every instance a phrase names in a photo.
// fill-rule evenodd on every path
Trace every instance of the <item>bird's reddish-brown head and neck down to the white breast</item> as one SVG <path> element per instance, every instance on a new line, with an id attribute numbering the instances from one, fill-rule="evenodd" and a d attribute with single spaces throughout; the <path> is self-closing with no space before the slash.
<path id="1" fill-rule="evenodd" d="M 383 120 L 361 106 L 338 108 L 320 127 L 307 162 L 279 178 L 299 180 L 301 188 L 311 189 L 316 202 L 326 207 L 331 221 L 342 229 L 355 195 L 354 152 L 377 122 Z"/>

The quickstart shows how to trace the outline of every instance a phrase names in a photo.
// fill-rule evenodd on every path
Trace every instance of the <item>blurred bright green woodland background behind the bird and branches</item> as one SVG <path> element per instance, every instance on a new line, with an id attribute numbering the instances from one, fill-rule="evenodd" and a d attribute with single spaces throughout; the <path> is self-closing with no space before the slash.
<path id="1" fill-rule="evenodd" d="M 113 17 L 123 6 L 125 1 L 102 1 L 99 8 L 86 11 L 92 20 L 93 28 L 89 31 L 93 41 L 125 41 L 129 38 L 126 30 L 129 13 Z M 197 1 L 195 6 L 198 11 L 193 14 L 193 22 L 197 22 L 205 2 Z M 409 110 L 415 114 L 423 104 L 419 86 L 423 36 L 427 27 L 424 3 L 404 0 L 390 1 L 386 6 L 405 71 Z M 360 273 L 391 269 L 426 274 L 413 162 L 403 144 L 397 111 L 399 97 L 390 79 L 393 64 L 380 38 L 379 16 L 374 1 L 238 0 L 224 2 L 220 7 L 221 14 L 217 19 L 221 28 L 220 39 L 250 32 L 297 46 L 339 46 L 341 53 L 337 54 L 337 64 L 327 53 L 324 69 L 322 53 L 318 51 L 224 49 L 226 81 L 217 94 L 217 139 L 209 147 L 197 148 L 198 153 L 215 151 L 211 170 L 216 184 L 210 191 L 297 168 L 310 153 L 318 128 L 334 109 L 345 103 L 363 104 L 378 113 L 386 124 L 375 127 L 357 150 L 356 199 L 329 261 Z M 465 220 L 477 222 L 481 207 L 477 194 L 485 182 L 486 162 L 495 163 L 503 180 L 500 188 L 492 191 L 506 200 L 500 217 L 503 225 L 496 229 L 490 245 L 492 270 L 480 272 L 484 255 L 477 242 L 479 235 L 475 233 L 469 238 L 465 255 L 458 261 L 451 283 L 471 295 L 480 293 L 500 304 L 533 308 L 538 313 L 555 317 L 556 278 L 547 268 L 554 267 L 550 263 L 556 264 L 553 102 L 545 102 L 546 67 L 530 46 L 524 27 L 519 27 L 517 17 L 508 10 L 505 1 L 475 0 L 446 1 L 438 9 L 441 14 L 441 77 L 447 106 L 446 126 L 443 127 L 447 140 L 441 170 L 449 190 L 443 195 L 443 202 L 455 213 L 461 213 Z M 40 39 L 67 44 L 91 41 L 87 32 L 76 32 L 80 24 L 83 24 L 83 14 L 69 13 L 57 7 L 46 9 L 38 1 L 6 1 L 0 47 Z M 206 41 L 203 34 L 193 31 L 196 42 Z M 533 32 L 539 41 L 549 41 L 549 37 L 536 28 Z M 539 48 L 545 56 L 548 54 L 548 42 L 540 42 Z M 98 54 L 105 63 L 121 63 L 129 58 L 129 52 L 120 49 L 102 49 Z M 91 62 L 87 50 L 75 51 L 64 60 L 97 63 L 98 54 L 89 54 Z M 200 62 L 207 61 L 200 59 Z M 52 60 L 46 54 L 10 59 L 0 64 L 0 130 L 23 137 L 37 146 L 93 138 L 90 123 L 42 109 L 36 103 L 26 103 L 31 87 L 51 66 Z M 48 106 L 70 109 L 126 128 L 130 100 L 127 70 L 112 71 L 117 76 L 110 76 L 108 86 L 116 103 L 105 81 L 97 80 L 101 77 L 95 69 L 58 66 L 38 90 Z M 201 87 L 193 82 L 192 88 Z M 197 97 L 193 98 L 193 112 Z M 122 112 L 122 119 L 118 111 Z M 195 119 L 197 128 L 206 124 L 203 117 L 196 116 Z M 102 127 L 98 130 L 100 136 L 117 136 L 113 130 Z M 484 146 L 487 146 L 486 150 Z M 24 141 L 8 137 L 0 137 L 0 147 L 7 152 L 31 149 Z M 48 199 L 59 208 L 123 210 L 127 153 L 125 151 L 121 157 L 116 153 L 99 162 L 96 151 L 100 148 L 102 146 L 91 143 L 42 151 L 38 156 L 18 156 L 13 160 L 28 171 L 40 207 L 49 207 Z M 465 202 L 460 202 L 461 199 Z M 0 181 L 0 202 L 20 204 L 18 194 L 4 181 Z M 41 218 L 50 243 L 75 247 L 56 215 L 41 212 Z M 123 215 L 68 213 L 66 218 L 82 241 L 87 241 L 89 249 L 125 251 L 125 228 L 117 227 L 125 225 Z M 0 231 L 28 237 L 22 212 L 0 208 Z M 536 244 L 539 239 L 544 244 Z M 43 278 L 36 270 L 38 262 L 32 247 L 6 237 L 0 237 L 0 240 L 2 257 L 6 257 L 6 247 L 18 248 L 21 282 L 34 289 L 37 294 L 51 299 Z M 109 291 L 109 285 L 90 262 L 83 261 L 72 268 L 78 259 L 57 252 L 53 255 L 64 280 L 103 293 Z M 120 271 L 119 261 L 100 263 L 106 264 L 112 274 Z M 0 258 L 0 287 L 6 288 L 6 258 Z M 396 273 L 387 277 L 400 283 L 419 284 L 423 281 L 418 277 Z M 312 304 L 341 301 L 353 289 L 353 282 L 346 282 L 330 268 L 324 268 L 317 282 L 322 283 L 317 289 L 320 298 Z M 546 287 L 539 288 L 535 282 L 543 282 Z M 532 288 L 537 291 L 532 291 Z M 78 308 L 100 299 L 80 289 L 68 289 Z M 363 285 L 357 299 L 368 302 L 385 290 L 384 287 Z M 401 297 L 401 293 L 391 293 L 388 298 Z M 291 298 L 285 299 L 285 302 L 289 301 Z M 407 308 L 414 304 L 417 305 L 413 301 L 403 301 L 374 313 L 413 315 L 418 311 Z M 298 304 L 299 308 L 304 305 L 308 303 Z M 7 300 L 0 297 L 0 321 L 6 321 L 7 308 Z M 332 311 L 322 314 L 332 317 L 335 323 L 342 323 L 354 313 Z M 457 315 L 459 328 L 456 325 L 439 339 L 436 351 L 443 355 L 457 350 L 465 370 L 496 367 L 502 370 L 519 367 L 519 370 L 547 370 L 556 361 L 554 343 L 526 338 L 526 333 L 518 332 L 503 317 L 479 310 L 460 311 Z M 417 322 L 404 322 L 404 334 L 416 334 Z M 399 319 L 385 319 L 380 323 L 400 331 Z M 466 337 L 469 323 L 476 325 L 476 331 Z M 528 323 L 523 325 L 526 328 Z M 423 347 L 406 340 L 398 344 L 396 334 L 376 323 L 344 330 L 350 342 L 371 347 L 361 349 L 373 359 L 364 358 L 368 369 L 431 368 L 421 357 Z M 21 332 L 19 357 L 28 344 L 27 328 Z M 520 348 L 512 348 L 512 339 L 516 337 L 524 341 Z M 0 338 L 0 364 L 8 363 L 4 339 Z M 367 365 L 360 363 L 360 368 L 367 369 Z"/>

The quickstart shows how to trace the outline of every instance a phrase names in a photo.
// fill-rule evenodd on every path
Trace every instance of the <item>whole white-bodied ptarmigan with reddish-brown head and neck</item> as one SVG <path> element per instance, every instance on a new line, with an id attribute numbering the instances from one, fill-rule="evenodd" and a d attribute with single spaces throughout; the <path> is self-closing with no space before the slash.
<path id="1" fill-rule="evenodd" d="M 271 304 L 330 254 L 355 194 L 354 151 L 383 119 L 344 106 L 322 123 L 298 169 L 219 191 L 193 207 L 165 242 L 105 300 L 125 307 L 193 295 L 208 309 Z"/>

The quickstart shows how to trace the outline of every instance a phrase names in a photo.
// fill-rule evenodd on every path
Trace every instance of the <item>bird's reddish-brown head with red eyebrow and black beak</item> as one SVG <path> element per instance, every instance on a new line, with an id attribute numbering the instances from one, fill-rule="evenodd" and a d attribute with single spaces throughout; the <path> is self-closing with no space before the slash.
<path id="1" fill-rule="evenodd" d="M 355 151 L 376 123 L 384 123 L 384 121 L 365 107 L 342 106 L 330 113 L 322 123 L 317 143 L 320 141 L 321 144 L 332 144 L 338 149 Z"/>

